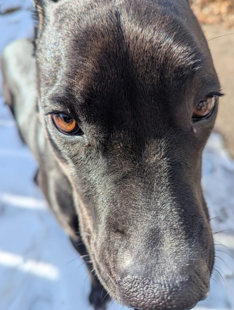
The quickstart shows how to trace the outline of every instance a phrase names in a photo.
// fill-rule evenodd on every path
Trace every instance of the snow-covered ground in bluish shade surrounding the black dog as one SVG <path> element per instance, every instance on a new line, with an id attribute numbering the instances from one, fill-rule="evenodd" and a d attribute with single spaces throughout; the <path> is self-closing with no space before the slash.
<path id="1" fill-rule="evenodd" d="M 9 42 L 33 35 L 30 7 L 30 0 L 0 0 L 0 13 L 16 9 L 0 15 L 0 55 Z M 203 164 L 212 228 L 234 228 L 234 162 L 219 135 L 211 135 Z M 35 171 L 0 88 L 0 310 L 92 310 L 87 270 L 35 186 Z M 234 259 L 228 255 L 234 256 L 234 231 L 214 237 L 215 268 L 227 288 L 214 271 L 210 297 L 195 308 L 234 309 Z M 115 302 L 110 307 L 121 309 Z"/>

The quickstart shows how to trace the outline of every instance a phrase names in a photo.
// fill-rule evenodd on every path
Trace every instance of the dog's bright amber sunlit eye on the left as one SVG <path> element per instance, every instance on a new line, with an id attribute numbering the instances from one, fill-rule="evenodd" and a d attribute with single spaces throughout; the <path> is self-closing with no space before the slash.
<path id="1" fill-rule="evenodd" d="M 76 121 L 69 115 L 58 113 L 51 114 L 54 125 L 59 131 L 67 135 L 82 135 L 83 132 L 77 125 Z"/>

